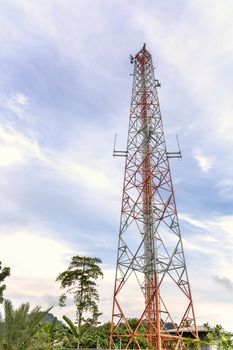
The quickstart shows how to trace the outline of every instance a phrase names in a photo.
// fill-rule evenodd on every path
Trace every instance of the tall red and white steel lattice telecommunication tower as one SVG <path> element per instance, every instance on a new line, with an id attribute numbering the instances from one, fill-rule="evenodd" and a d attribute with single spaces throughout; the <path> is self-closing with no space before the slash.
<path id="1" fill-rule="evenodd" d="M 198 333 L 169 166 L 177 153 L 166 149 L 151 54 L 144 45 L 131 60 L 110 347 L 184 349 L 184 327 Z"/>

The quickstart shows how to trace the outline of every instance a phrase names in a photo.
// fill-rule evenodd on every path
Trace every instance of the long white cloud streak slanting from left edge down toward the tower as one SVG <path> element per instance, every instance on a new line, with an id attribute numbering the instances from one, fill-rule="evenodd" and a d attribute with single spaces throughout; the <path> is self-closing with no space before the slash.
<path id="1" fill-rule="evenodd" d="M 98 152 L 98 151 L 97 151 Z M 94 157 L 95 157 L 94 151 Z M 109 155 L 110 157 L 110 155 Z M 10 166 L 18 163 L 30 163 L 33 160 L 41 162 L 44 169 L 56 173 L 57 178 L 65 178 L 80 186 L 95 189 L 98 192 L 118 193 L 115 180 L 106 174 L 105 169 L 96 166 L 96 160 L 85 162 L 85 156 L 80 157 L 70 150 L 57 152 L 43 148 L 35 139 L 30 139 L 12 127 L 0 125 L 0 166 Z"/>

